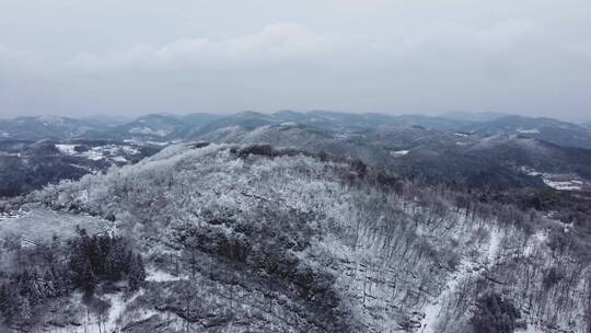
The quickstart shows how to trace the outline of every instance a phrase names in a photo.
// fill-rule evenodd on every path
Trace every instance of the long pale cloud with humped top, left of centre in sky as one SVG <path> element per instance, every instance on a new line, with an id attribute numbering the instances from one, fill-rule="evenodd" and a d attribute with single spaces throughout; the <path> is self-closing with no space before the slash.
<path id="1" fill-rule="evenodd" d="M 162 46 L 137 45 L 108 54 L 83 53 L 72 65 L 74 70 L 91 72 L 265 69 L 294 60 L 314 64 L 346 50 L 351 42 L 338 35 L 316 34 L 299 24 L 278 23 L 228 39 L 183 38 Z"/>

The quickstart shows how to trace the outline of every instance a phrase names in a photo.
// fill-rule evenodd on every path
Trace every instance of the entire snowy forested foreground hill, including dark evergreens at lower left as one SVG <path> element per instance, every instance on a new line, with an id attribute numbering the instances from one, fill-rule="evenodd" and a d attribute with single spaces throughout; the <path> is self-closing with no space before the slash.
<path id="1" fill-rule="evenodd" d="M 0 205 L 2 332 L 591 332 L 584 219 L 359 159 L 178 143 Z"/>

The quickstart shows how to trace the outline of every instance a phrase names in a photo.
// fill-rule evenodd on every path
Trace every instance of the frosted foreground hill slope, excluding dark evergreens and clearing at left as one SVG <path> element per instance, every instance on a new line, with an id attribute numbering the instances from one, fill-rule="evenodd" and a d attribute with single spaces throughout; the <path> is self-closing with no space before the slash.
<path id="1" fill-rule="evenodd" d="M 147 284 L 109 326 L 587 332 L 589 260 L 556 221 L 376 182 L 354 162 L 195 147 L 30 196 L 115 220 L 144 253 Z"/>

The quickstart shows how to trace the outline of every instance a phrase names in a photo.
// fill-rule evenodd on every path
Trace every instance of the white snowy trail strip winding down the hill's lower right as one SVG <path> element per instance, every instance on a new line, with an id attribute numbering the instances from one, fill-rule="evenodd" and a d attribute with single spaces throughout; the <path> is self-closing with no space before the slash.
<path id="1" fill-rule="evenodd" d="M 499 252 L 500 234 L 497 229 L 490 231 L 490 240 L 486 251 L 486 266 L 491 267 Z M 475 271 L 472 267 L 480 266 L 482 263 L 462 260 L 455 273 L 445 283 L 443 291 L 431 301 L 425 309 L 425 317 L 420 321 L 420 333 L 434 333 L 442 310 L 447 309 L 449 301 L 457 288 L 466 280 L 477 277 L 484 269 Z"/>

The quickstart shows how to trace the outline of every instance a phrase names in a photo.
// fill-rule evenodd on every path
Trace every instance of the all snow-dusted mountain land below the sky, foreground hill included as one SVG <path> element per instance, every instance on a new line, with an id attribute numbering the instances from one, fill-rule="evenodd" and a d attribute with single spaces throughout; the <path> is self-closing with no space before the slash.
<path id="1" fill-rule="evenodd" d="M 0 332 L 589 332 L 586 129 L 467 123 L 27 123 L 61 139 L 0 140 Z"/>

